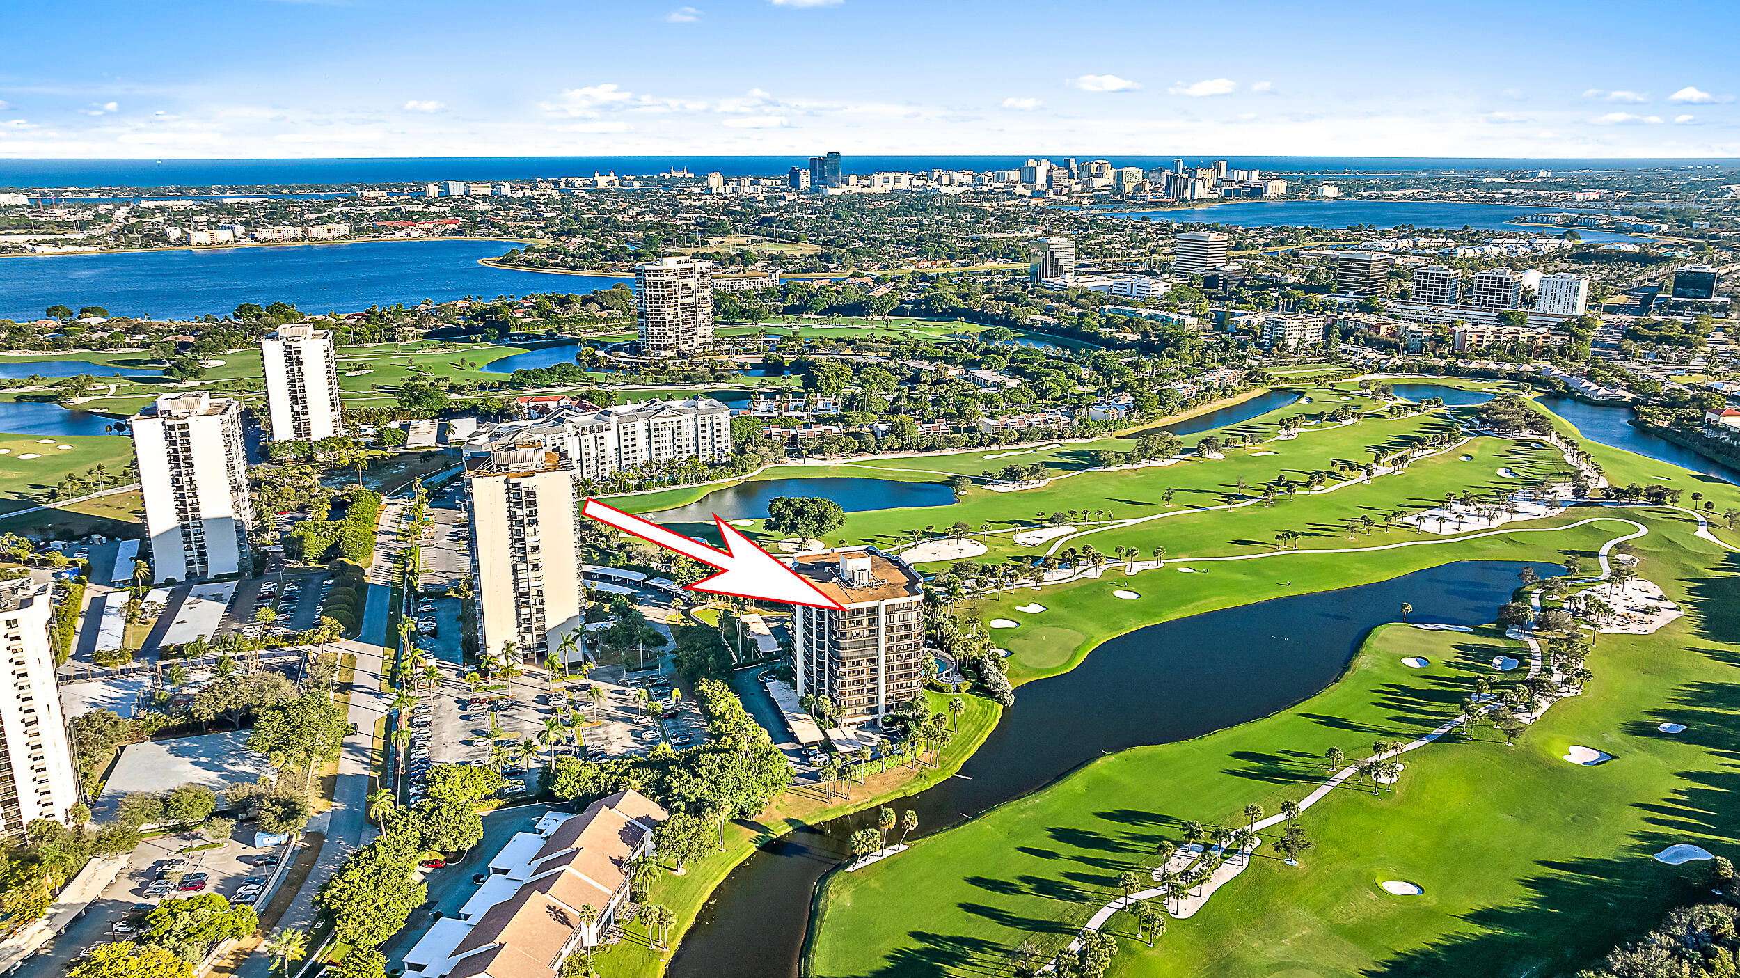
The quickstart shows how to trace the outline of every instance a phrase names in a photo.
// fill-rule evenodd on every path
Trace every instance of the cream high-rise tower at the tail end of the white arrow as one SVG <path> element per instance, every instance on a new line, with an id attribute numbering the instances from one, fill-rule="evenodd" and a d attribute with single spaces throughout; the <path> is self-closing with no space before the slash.
<path id="1" fill-rule="evenodd" d="M 585 625 L 574 466 L 543 447 L 466 459 L 478 649 L 522 661 L 560 654 Z"/>

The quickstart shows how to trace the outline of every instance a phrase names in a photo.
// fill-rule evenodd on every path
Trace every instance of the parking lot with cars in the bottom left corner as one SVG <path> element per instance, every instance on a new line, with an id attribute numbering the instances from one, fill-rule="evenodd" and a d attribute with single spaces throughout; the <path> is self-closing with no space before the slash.
<path id="1" fill-rule="evenodd" d="M 160 839 L 146 839 L 137 849 L 132 851 L 132 856 L 127 860 L 127 867 L 120 870 L 115 882 L 111 882 L 101 896 L 90 901 L 84 917 L 73 921 L 71 926 L 66 928 L 66 933 L 54 938 L 35 957 L 26 959 L 12 975 L 17 978 L 50 978 L 66 975 L 66 968 L 80 955 L 80 952 L 101 943 L 127 940 L 132 933 L 130 928 L 160 900 L 171 896 L 198 896 L 204 893 L 216 893 L 235 901 L 244 886 L 264 888 L 277 867 L 258 865 L 259 860 L 263 856 L 282 858 L 285 847 L 275 846 L 259 849 L 251 844 L 252 841 L 252 825 L 238 827 L 230 844 L 223 849 L 205 849 L 188 854 L 181 854 L 181 849 L 202 846 L 205 844 L 205 839 L 200 835 L 165 835 Z M 158 870 L 165 868 L 172 860 L 186 860 L 186 865 L 176 868 L 169 877 L 171 889 L 158 896 L 146 896 L 146 893 L 157 893 L 150 889 L 150 884 L 158 877 Z M 179 889 L 181 881 L 197 874 L 205 874 L 204 888 L 186 891 Z M 259 882 L 249 882 L 256 879 Z"/>

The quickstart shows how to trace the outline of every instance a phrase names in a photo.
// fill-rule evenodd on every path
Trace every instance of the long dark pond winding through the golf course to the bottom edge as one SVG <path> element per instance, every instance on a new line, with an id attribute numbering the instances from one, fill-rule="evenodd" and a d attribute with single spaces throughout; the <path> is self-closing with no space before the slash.
<path id="1" fill-rule="evenodd" d="M 1528 564 L 1542 576 L 1554 564 Z M 1068 771 L 1138 745 L 1169 743 L 1265 717 L 1324 689 L 1401 602 L 1420 621 L 1482 625 L 1517 586 L 1519 562 L 1469 560 L 1390 581 L 1164 621 L 1121 635 L 1082 665 L 1016 691 L 1014 707 L 959 778 L 900 807 L 920 834 L 973 818 Z M 1140 578 L 1136 578 L 1140 579 Z M 738 675 L 746 693 L 748 673 Z M 875 811 L 776 839 L 706 903 L 670 966 L 677 978 L 795 978 L 816 882 Z"/>

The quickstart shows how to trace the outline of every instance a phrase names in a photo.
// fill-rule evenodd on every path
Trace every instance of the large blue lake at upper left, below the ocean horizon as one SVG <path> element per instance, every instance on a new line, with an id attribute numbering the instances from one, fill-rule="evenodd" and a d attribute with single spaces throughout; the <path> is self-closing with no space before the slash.
<path id="1" fill-rule="evenodd" d="M 478 265 L 513 242 L 332 242 L 165 249 L 0 259 L 0 317 L 37 318 L 54 305 L 110 315 L 191 318 L 242 303 L 291 303 L 308 313 L 465 296 L 590 292 L 628 278 L 548 275 Z"/>

